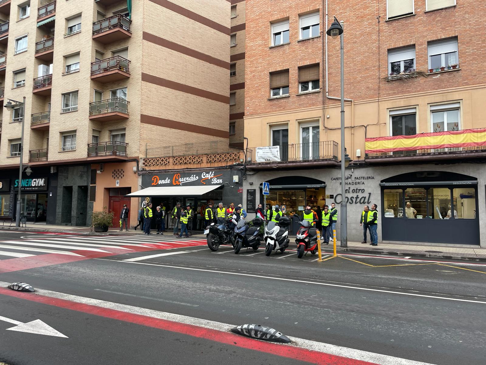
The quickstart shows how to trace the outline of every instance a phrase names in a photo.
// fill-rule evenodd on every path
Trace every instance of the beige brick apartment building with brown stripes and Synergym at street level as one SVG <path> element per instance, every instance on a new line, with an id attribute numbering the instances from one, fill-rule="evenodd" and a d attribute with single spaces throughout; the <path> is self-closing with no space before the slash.
<path id="1" fill-rule="evenodd" d="M 0 216 L 90 225 L 122 204 L 136 224 L 147 151 L 228 144 L 226 0 L 2 0 Z M 183 31 L 184 30 L 184 31 Z M 192 36 L 189 37 L 188 34 Z M 25 104 L 21 105 L 25 97 Z M 225 123 L 220 123 L 225 121 Z M 162 156 L 163 153 L 157 156 Z"/>

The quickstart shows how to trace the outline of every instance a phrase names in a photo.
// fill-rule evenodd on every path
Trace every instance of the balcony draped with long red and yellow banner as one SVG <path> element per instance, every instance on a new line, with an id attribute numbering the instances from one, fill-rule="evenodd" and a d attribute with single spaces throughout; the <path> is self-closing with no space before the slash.
<path id="1" fill-rule="evenodd" d="M 486 157 L 486 128 L 365 139 L 364 161 L 432 162 Z"/>

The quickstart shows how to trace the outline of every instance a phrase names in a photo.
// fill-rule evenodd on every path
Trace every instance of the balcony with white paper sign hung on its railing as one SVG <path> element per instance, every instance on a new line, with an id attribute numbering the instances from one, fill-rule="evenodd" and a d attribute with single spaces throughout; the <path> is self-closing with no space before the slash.
<path id="1" fill-rule="evenodd" d="M 246 163 L 252 168 L 334 166 L 339 164 L 334 141 L 296 143 L 283 146 L 246 148 Z"/>

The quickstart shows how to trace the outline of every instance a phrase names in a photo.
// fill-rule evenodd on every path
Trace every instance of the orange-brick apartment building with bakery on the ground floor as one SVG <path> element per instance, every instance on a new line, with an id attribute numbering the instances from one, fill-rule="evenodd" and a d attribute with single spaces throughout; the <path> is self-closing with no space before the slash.
<path id="1" fill-rule="evenodd" d="M 380 240 L 486 246 L 485 14 L 472 0 L 246 0 L 246 168 L 258 174 L 243 200 L 270 182 L 267 202 L 289 214 L 343 201 L 336 16 L 348 239 L 363 240 L 375 203 Z"/>

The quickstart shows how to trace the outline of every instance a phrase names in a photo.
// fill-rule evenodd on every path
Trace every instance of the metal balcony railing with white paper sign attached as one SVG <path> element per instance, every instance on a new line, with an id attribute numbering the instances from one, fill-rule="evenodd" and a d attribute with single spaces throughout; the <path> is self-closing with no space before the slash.
<path id="1" fill-rule="evenodd" d="M 297 161 L 337 161 L 338 144 L 334 141 L 296 143 L 282 146 L 246 148 L 247 164 Z"/>

